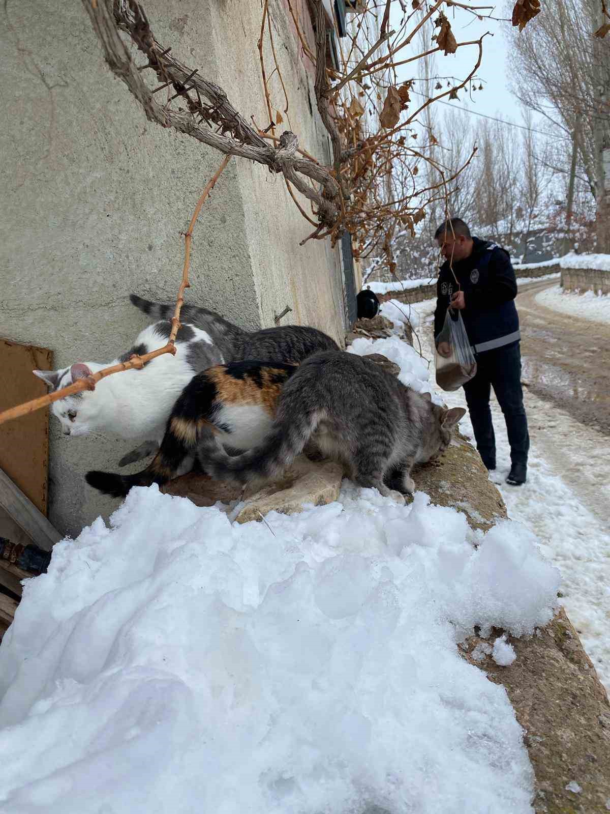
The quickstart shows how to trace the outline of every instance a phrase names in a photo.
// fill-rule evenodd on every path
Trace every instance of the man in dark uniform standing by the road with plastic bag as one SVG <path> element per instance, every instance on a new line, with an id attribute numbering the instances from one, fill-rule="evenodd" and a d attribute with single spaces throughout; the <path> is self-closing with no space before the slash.
<path id="1" fill-rule="evenodd" d="M 490 411 L 493 387 L 511 446 L 511 470 L 506 482 L 521 486 L 527 477 L 529 434 L 521 390 L 516 279 L 508 252 L 495 243 L 473 238 L 458 217 L 440 225 L 434 238 L 445 258 L 438 274 L 434 336 L 441 332 L 449 306 L 458 309 L 477 357 L 477 374 L 464 384 L 477 449 L 487 469 L 495 469 Z M 448 356 L 447 343 L 437 343 L 437 347 L 442 356 Z"/>

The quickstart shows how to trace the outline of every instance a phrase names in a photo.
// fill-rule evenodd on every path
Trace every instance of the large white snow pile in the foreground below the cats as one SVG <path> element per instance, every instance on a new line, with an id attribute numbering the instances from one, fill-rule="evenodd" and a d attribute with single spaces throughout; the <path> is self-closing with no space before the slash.
<path id="1" fill-rule="evenodd" d="M 534 537 L 350 484 L 267 523 L 135 488 L 55 546 L 0 648 L 0 811 L 531 811 L 456 643 L 551 618 Z"/>

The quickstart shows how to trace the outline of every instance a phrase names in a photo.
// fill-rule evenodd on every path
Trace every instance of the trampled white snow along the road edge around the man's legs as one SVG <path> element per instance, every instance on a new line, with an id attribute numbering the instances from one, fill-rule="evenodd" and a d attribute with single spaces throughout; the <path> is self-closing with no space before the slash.
<path id="1" fill-rule="evenodd" d="M 422 325 L 420 340 L 425 345 L 425 355 L 431 359 L 434 359 L 431 350 L 434 305 L 434 300 L 427 300 L 414 306 Z M 434 373 L 430 379 L 434 379 Z M 450 407 L 466 406 L 462 389 L 437 392 Z M 608 514 L 596 512 L 595 506 L 586 501 L 587 491 L 598 490 L 601 504 L 610 492 L 608 439 L 594 430 L 587 431 L 527 389 L 525 409 L 531 441 L 528 480 L 525 486 L 516 488 L 504 483 L 510 468 L 510 448 L 503 414 L 492 395 L 499 468 L 490 473 L 490 479 L 499 488 L 509 517 L 529 527 L 538 536 L 542 554 L 560 568 L 561 602 L 595 664 L 600 681 L 610 691 Z M 460 422 L 460 431 L 474 444 L 468 414 Z"/>

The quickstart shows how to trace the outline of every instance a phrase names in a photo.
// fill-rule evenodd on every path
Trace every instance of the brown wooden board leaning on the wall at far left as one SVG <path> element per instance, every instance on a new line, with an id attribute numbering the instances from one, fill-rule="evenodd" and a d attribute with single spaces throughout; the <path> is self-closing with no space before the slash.
<path id="1" fill-rule="evenodd" d="M 0 359 L 0 411 L 46 395 L 46 384 L 32 371 L 51 370 L 50 350 L 0 339 Z M 0 424 L 0 467 L 42 514 L 48 466 L 48 409 Z"/>

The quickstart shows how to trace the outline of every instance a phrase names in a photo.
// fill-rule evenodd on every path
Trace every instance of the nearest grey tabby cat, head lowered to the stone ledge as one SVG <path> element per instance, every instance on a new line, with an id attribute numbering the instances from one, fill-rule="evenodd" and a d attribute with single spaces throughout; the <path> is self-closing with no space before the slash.
<path id="1" fill-rule="evenodd" d="M 245 483 L 279 475 L 312 441 L 342 462 L 362 487 L 403 501 L 415 489 L 411 469 L 442 453 L 466 411 L 434 405 L 365 358 L 321 352 L 307 358 L 281 388 L 264 444 L 229 456 L 211 433 L 199 439 L 203 469 Z"/>

